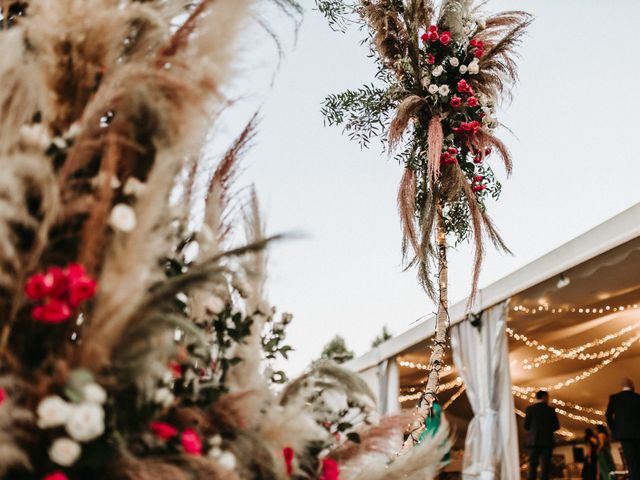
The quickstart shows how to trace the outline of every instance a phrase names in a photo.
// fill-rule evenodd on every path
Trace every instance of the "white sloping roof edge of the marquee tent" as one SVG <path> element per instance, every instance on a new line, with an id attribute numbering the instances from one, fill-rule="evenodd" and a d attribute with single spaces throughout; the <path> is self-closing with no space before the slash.
<path id="1" fill-rule="evenodd" d="M 479 290 L 474 310 L 482 311 L 507 299 L 515 300 L 521 298 L 524 301 L 531 295 L 535 296 L 538 293 L 547 292 L 557 284 L 559 275 L 569 272 L 582 264 L 587 264 L 590 260 L 596 259 L 596 257 L 602 257 L 601 260 L 605 263 L 607 261 L 615 261 L 611 257 L 611 252 L 616 247 L 638 238 L 640 238 L 640 203 Z M 609 252 L 609 256 L 606 255 L 607 252 Z M 586 273 L 594 269 L 597 271 L 599 269 L 597 265 L 598 262 L 591 262 L 590 266 L 585 267 L 584 272 L 579 275 L 585 278 L 590 277 L 591 275 L 586 275 Z M 638 270 L 635 270 L 629 272 L 629 274 L 633 278 L 635 273 L 635 277 L 638 278 L 640 275 L 637 272 Z M 615 272 L 611 273 L 611 276 L 611 278 L 619 277 Z M 629 279 L 628 276 L 627 279 Z M 624 284 L 624 281 L 622 283 Z M 580 289 L 576 288 L 576 282 L 572 282 L 571 285 L 567 287 L 568 290 L 565 290 L 565 292 L 576 292 L 574 294 L 576 298 L 572 300 L 578 302 L 578 297 L 581 295 L 578 293 Z M 526 298 L 522 297 L 525 292 L 527 292 Z M 587 294 L 588 291 L 583 288 L 582 296 L 584 297 Z M 537 300 L 545 301 L 552 299 L 552 297 L 550 299 L 537 298 Z M 467 299 L 464 299 L 450 307 L 449 315 L 452 325 L 466 318 L 466 304 Z M 539 318 L 543 319 L 542 316 Z M 547 320 L 549 319 L 547 318 Z M 346 364 L 346 367 L 355 371 L 363 371 L 387 358 L 410 350 L 416 344 L 424 342 L 433 336 L 434 326 L 435 318 L 430 317 L 401 335 L 379 345 L 365 355 L 350 361 Z M 514 378 L 515 380 L 516 378 Z"/>

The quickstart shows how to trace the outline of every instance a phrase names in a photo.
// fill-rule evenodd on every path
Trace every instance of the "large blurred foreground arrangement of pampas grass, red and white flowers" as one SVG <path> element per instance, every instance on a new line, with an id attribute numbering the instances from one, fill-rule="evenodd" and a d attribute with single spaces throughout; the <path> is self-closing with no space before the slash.
<path id="1" fill-rule="evenodd" d="M 379 420 L 354 375 L 319 364 L 289 383 L 278 368 L 291 316 L 266 296 L 276 237 L 234 182 L 255 121 L 220 158 L 203 152 L 231 103 L 239 33 L 264 25 L 268 4 L 300 12 L 286 0 L 1 3 L 0 478 L 437 469 L 446 434 L 396 459 L 407 419 Z"/>

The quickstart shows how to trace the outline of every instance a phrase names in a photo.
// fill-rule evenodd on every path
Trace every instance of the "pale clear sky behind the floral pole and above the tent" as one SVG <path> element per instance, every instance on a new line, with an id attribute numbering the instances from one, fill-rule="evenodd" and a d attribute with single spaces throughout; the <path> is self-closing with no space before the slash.
<path id="1" fill-rule="evenodd" d="M 373 78 L 362 34 L 332 32 L 312 0 L 303 4 L 295 47 L 291 23 L 273 24 L 286 50 L 273 84 L 273 55 L 255 48 L 265 42 L 257 32 L 243 39 L 250 61 L 237 84 L 266 90 L 245 99 L 247 112 L 262 105 L 263 121 L 241 183 L 256 185 L 270 232 L 306 234 L 271 252 L 271 301 L 295 315 L 291 372 L 336 333 L 363 354 L 383 325 L 398 334 L 434 308 L 414 272 L 401 268 L 401 168 L 375 143 L 360 151 L 323 126 L 327 94 Z M 514 174 L 489 205 L 514 256 L 490 251 L 481 286 L 640 201 L 640 2 L 494 0 L 488 8 L 527 10 L 536 21 L 520 49 L 514 100 L 500 112 L 514 132 L 500 133 Z M 468 293 L 471 261 L 466 247 L 451 254 L 453 301 Z"/>

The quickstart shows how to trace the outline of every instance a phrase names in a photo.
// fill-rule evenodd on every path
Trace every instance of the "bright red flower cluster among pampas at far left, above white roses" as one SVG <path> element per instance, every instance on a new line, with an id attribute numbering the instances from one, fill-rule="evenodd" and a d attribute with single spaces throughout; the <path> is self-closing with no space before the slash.
<path id="1" fill-rule="evenodd" d="M 84 267 L 72 263 L 64 270 L 49 267 L 45 273 L 29 277 L 25 293 L 31 300 L 44 300 L 33 307 L 34 320 L 45 323 L 60 323 L 71 316 L 71 310 L 96 294 L 96 281 L 87 275 Z"/>

